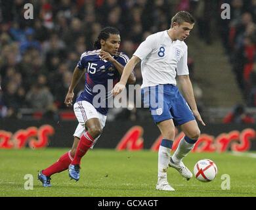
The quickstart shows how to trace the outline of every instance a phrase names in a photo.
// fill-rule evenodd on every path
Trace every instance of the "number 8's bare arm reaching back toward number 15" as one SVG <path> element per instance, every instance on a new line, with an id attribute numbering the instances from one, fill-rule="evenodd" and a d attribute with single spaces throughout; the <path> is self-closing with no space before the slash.
<path id="1" fill-rule="evenodd" d="M 123 69 L 123 74 L 121 75 L 121 79 L 119 83 L 117 83 L 114 86 L 114 89 L 112 90 L 112 93 L 114 96 L 118 95 L 125 89 L 125 85 L 127 83 L 127 80 L 129 78 L 129 75 L 133 72 L 135 66 L 140 62 L 140 58 L 137 56 L 133 56 L 129 62 L 125 65 L 125 68 Z"/>

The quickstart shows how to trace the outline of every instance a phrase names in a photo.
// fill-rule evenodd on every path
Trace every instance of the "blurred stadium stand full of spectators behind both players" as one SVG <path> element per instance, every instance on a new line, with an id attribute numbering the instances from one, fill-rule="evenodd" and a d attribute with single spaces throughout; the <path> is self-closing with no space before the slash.
<path id="1" fill-rule="evenodd" d="M 25 3 L 33 5 L 33 20 L 24 18 Z M 231 6 L 230 20 L 221 19 L 222 3 Z M 118 28 L 121 51 L 131 57 L 148 35 L 169 28 L 171 14 L 180 10 L 197 20 L 188 39 L 188 65 L 203 115 L 215 121 L 215 110 L 221 121 L 241 102 L 256 113 L 254 0 L 10 0 L 1 1 L 0 7 L 0 117 L 75 119 L 64 97 L 79 56 L 93 49 L 101 28 Z M 139 66 L 135 73 L 141 84 Z M 223 80 L 216 87 L 217 79 Z M 83 82 L 76 93 L 81 89 Z M 118 116 L 127 117 L 127 110 Z M 128 116 L 135 120 L 149 115 L 137 109 Z"/>

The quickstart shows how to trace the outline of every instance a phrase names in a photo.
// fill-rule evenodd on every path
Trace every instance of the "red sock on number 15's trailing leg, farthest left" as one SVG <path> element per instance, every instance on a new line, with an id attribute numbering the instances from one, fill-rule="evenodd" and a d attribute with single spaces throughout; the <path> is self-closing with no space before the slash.
<path id="1" fill-rule="evenodd" d="M 47 169 L 44 169 L 42 173 L 47 177 L 51 177 L 51 175 L 54 175 L 54 173 L 60 173 L 62 171 L 65 171 L 66 169 L 68 169 L 68 166 L 70 165 L 72 160 L 73 157 L 71 156 L 71 153 L 69 151 L 61 156 L 60 159 L 56 161 L 56 163 L 53 163 L 53 165 L 51 165 Z"/>

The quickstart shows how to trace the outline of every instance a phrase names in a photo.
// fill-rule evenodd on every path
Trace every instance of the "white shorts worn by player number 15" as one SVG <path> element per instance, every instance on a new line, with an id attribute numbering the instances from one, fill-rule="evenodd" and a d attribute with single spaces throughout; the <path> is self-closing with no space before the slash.
<path id="1" fill-rule="evenodd" d="M 93 104 L 91 104 L 85 100 L 76 102 L 74 104 L 74 112 L 75 112 L 75 116 L 79 122 L 79 124 L 77 125 L 77 127 L 75 129 L 75 133 L 73 135 L 74 137 L 81 138 L 83 133 L 85 133 L 86 121 L 89 119 L 92 119 L 92 118 L 98 118 L 98 120 L 100 121 L 101 128 L 103 129 L 105 127 L 106 116 L 104 116 L 100 112 L 97 112 L 97 110 L 95 109 Z M 95 138 L 95 140 L 93 142 L 93 146 L 95 145 L 98 138 L 99 137 Z M 93 148 L 93 146 L 91 146 L 91 148 Z"/>

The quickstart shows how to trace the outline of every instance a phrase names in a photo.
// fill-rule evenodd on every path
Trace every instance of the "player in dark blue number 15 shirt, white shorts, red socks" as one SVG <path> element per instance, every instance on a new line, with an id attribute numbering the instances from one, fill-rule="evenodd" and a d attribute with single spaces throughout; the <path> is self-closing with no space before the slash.
<path id="1" fill-rule="evenodd" d="M 115 85 L 119 81 L 123 68 L 129 61 L 126 54 L 118 52 L 120 41 L 119 31 L 116 28 L 106 27 L 100 31 L 98 39 L 95 41 L 97 50 L 87 51 L 81 55 L 65 99 L 66 106 L 72 106 L 75 86 L 85 74 L 85 89 L 74 104 L 75 116 L 79 121 L 74 133 L 74 144 L 72 150 L 60 157 L 56 163 L 39 172 L 38 179 L 43 186 L 51 186 L 51 175 L 66 169 L 68 169 L 71 179 L 79 180 L 81 158 L 89 148 L 93 148 L 106 123 L 108 98 L 113 88 L 113 86 L 108 86 L 109 84 Z M 132 72 L 129 75 L 128 83 L 134 84 L 135 81 L 136 78 Z M 100 104 L 103 102 L 106 106 L 96 104 L 98 100 L 95 101 L 94 98 L 100 93 L 93 91 L 95 85 L 103 87 Z"/>

